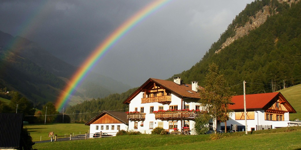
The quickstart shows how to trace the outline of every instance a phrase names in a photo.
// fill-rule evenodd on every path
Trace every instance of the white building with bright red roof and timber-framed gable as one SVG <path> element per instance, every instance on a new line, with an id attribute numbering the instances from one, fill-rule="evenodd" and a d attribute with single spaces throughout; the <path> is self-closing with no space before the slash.
<path id="1" fill-rule="evenodd" d="M 229 105 L 230 113 L 227 121 L 227 131 L 231 125 L 237 125 L 237 131 L 245 131 L 244 95 L 232 97 L 234 105 Z M 289 113 L 296 110 L 280 92 L 246 95 L 247 131 L 275 129 L 287 127 L 290 122 Z M 221 123 L 220 130 L 225 130 L 225 123 Z"/>

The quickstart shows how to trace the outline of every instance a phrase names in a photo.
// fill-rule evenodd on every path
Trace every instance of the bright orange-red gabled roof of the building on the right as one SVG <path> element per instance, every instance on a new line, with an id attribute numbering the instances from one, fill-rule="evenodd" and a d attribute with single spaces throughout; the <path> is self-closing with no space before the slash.
<path id="1" fill-rule="evenodd" d="M 288 101 L 280 92 L 246 95 L 246 109 L 264 109 L 268 103 L 275 100 L 274 98 L 276 97 L 279 97 L 282 101 L 285 101 L 284 105 L 287 107 L 288 112 L 296 113 L 296 110 L 290 105 L 290 103 L 288 103 Z M 229 109 L 244 109 L 244 95 L 233 96 L 231 101 L 235 104 L 229 105 Z"/>

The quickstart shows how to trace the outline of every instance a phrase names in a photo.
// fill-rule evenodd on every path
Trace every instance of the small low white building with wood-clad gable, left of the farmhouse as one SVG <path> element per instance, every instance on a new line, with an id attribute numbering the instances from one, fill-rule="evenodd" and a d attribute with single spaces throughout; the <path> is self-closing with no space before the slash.
<path id="1" fill-rule="evenodd" d="M 90 126 L 90 137 L 98 132 L 116 135 L 119 130 L 127 130 L 129 122 L 124 112 L 103 111 L 85 123 Z"/>

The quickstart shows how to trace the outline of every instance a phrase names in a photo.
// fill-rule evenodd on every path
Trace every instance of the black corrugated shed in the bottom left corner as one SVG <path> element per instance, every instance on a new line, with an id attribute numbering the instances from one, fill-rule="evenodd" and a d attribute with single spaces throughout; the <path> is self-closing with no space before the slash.
<path id="1" fill-rule="evenodd" d="M 23 114 L 0 113 L 0 149 L 21 149 Z"/>

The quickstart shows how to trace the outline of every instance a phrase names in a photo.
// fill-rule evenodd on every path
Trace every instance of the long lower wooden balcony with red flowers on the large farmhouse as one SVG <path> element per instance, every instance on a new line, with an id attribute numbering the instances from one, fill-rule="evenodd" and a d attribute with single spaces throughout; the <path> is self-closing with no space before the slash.
<path id="1" fill-rule="evenodd" d="M 160 120 L 172 120 L 172 119 L 195 119 L 198 116 L 194 112 L 166 112 L 166 113 L 155 113 L 155 119 Z"/>

